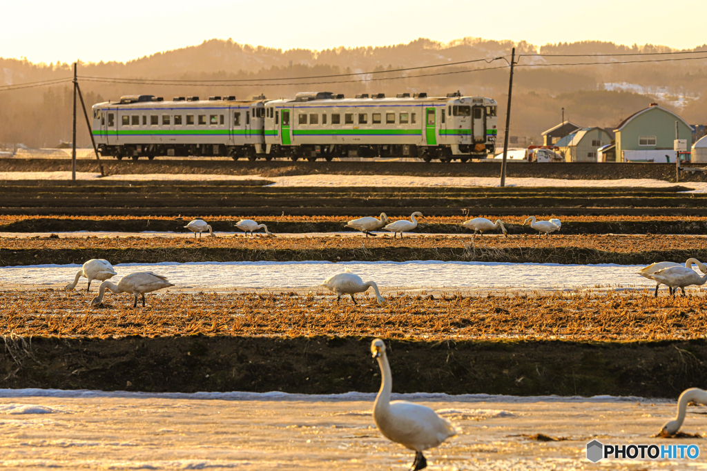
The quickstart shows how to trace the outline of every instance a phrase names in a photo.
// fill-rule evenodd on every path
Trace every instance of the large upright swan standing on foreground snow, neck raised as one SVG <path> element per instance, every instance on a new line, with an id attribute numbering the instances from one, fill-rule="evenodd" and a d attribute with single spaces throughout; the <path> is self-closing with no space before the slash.
<path id="1" fill-rule="evenodd" d="M 427 466 L 422 454 L 428 448 L 434 448 L 457 431 L 448 421 L 438 416 L 429 407 L 408 403 L 404 400 L 390 402 L 392 374 L 385 354 L 385 342 L 377 338 L 370 344 L 373 358 L 378 359 L 382 380 L 380 390 L 373 405 L 373 421 L 380 433 L 390 441 L 400 443 L 415 452 L 415 461 L 411 470 L 421 470 Z"/>

